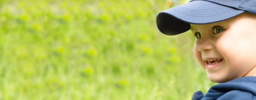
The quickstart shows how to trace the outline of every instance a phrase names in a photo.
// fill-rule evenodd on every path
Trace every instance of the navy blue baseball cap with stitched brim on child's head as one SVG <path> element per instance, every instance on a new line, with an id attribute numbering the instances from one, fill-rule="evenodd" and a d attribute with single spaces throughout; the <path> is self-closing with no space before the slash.
<path id="1" fill-rule="evenodd" d="M 189 23 L 215 23 L 243 12 L 256 14 L 256 0 L 190 0 L 158 13 L 156 25 L 165 35 L 177 35 L 190 30 Z"/>

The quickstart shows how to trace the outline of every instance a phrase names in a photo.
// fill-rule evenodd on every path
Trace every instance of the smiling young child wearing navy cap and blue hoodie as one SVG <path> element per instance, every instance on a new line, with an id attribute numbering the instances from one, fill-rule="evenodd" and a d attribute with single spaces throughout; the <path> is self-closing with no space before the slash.
<path id="1" fill-rule="evenodd" d="M 193 100 L 256 100 L 255 0 L 190 0 L 158 13 L 156 23 L 165 35 L 191 29 L 197 61 L 220 83 Z"/>

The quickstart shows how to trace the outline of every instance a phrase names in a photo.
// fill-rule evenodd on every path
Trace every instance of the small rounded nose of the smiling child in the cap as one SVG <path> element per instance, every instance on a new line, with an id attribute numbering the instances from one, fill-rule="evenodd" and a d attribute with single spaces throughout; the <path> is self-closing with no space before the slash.
<path id="1" fill-rule="evenodd" d="M 211 43 L 211 39 L 204 39 L 201 38 L 201 41 L 199 42 L 197 49 L 201 52 L 210 51 L 213 49 L 213 44 Z"/>

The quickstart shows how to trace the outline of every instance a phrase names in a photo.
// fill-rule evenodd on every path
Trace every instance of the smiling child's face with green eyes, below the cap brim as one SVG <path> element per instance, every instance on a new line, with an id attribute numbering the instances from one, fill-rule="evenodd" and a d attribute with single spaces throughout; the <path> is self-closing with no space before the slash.
<path id="1" fill-rule="evenodd" d="M 254 16 L 242 13 L 216 23 L 190 24 L 196 35 L 194 55 L 211 81 L 223 83 L 256 76 Z"/>

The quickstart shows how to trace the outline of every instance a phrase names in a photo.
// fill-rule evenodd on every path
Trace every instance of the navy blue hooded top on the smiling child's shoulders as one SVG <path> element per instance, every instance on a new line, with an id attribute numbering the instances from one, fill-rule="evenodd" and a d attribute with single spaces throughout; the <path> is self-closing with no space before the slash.
<path id="1" fill-rule="evenodd" d="M 204 95 L 194 93 L 192 100 L 256 100 L 256 77 L 247 76 L 212 86 Z"/>

